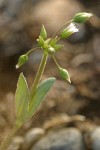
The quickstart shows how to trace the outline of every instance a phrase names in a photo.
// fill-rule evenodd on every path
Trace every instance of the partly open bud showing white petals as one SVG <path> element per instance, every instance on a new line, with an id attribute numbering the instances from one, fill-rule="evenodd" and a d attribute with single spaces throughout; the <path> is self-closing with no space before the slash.
<path id="1" fill-rule="evenodd" d="M 68 38 L 69 36 L 71 36 L 73 33 L 78 32 L 79 30 L 76 28 L 74 23 L 71 23 L 67 28 L 65 28 L 62 32 L 61 32 L 61 37 L 62 38 Z"/>

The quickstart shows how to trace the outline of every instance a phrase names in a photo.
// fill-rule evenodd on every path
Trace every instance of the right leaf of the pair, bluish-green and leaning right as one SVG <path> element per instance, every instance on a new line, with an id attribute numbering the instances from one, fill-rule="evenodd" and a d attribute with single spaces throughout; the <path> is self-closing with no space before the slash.
<path id="1" fill-rule="evenodd" d="M 36 90 L 35 96 L 31 97 L 28 119 L 31 118 L 33 114 L 36 112 L 37 108 L 40 106 L 41 102 L 44 100 L 45 96 L 53 86 L 55 80 L 56 80 L 55 78 L 51 77 L 40 83 L 40 85 Z"/>

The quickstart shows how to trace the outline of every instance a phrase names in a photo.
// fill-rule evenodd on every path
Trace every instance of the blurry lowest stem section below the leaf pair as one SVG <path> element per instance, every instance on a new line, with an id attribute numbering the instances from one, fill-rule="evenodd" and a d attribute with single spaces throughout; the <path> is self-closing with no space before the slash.
<path id="1" fill-rule="evenodd" d="M 11 140 L 12 140 L 13 136 L 16 134 L 16 132 L 17 132 L 18 129 L 19 129 L 18 127 L 14 127 L 13 128 L 13 130 L 10 132 L 10 134 L 5 138 L 5 140 L 1 144 L 0 150 L 6 150 L 6 148 L 11 143 Z"/>

